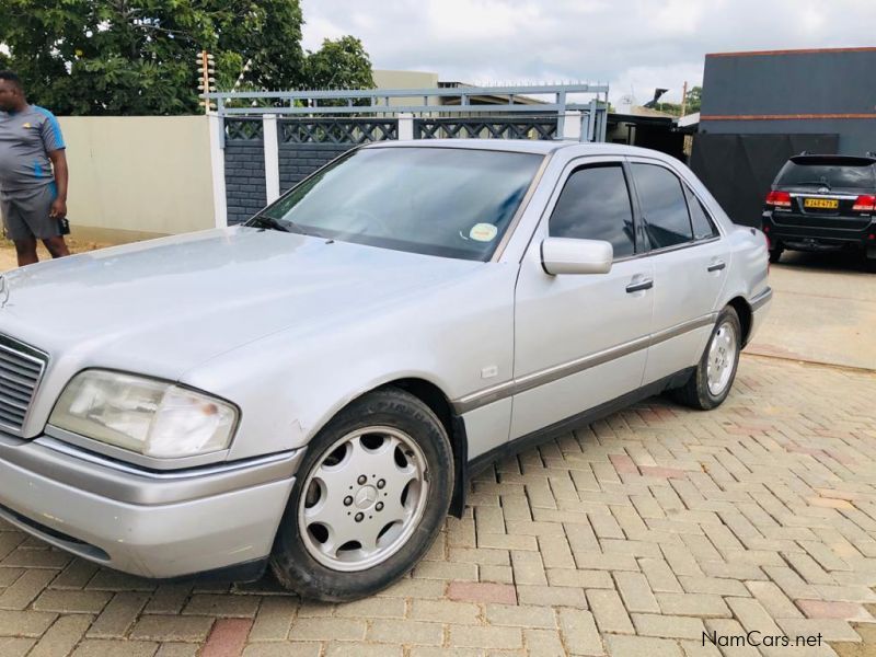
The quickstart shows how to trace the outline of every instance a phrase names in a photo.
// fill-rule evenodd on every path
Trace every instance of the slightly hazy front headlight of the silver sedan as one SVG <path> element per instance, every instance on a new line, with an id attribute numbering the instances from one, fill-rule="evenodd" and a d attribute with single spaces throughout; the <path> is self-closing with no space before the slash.
<path id="1" fill-rule="evenodd" d="M 87 370 L 65 389 L 49 424 L 147 457 L 173 459 L 226 449 L 237 410 L 172 383 Z"/>

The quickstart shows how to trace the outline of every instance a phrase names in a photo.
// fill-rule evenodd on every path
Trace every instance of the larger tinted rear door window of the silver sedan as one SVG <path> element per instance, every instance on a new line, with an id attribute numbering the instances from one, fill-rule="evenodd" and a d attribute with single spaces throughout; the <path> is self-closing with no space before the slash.
<path id="1" fill-rule="evenodd" d="M 652 249 L 691 242 L 688 203 L 676 174 L 656 164 L 633 164 L 633 176 Z"/>

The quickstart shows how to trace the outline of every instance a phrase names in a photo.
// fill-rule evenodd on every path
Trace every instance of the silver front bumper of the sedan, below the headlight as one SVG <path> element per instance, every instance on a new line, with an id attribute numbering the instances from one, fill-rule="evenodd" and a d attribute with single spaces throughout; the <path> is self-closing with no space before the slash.
<path id="1" fill-rule="evenodd" d="M 0 434 L 0 518 L 142 577 L 217 570 L 270 553 L 302 456 L 154 473 L 49 436 Z"/>

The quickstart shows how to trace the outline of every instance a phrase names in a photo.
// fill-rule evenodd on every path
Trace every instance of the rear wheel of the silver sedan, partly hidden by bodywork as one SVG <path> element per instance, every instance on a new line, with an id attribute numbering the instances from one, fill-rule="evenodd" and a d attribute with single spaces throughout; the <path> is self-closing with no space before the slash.
<path id="1" fill-rule="evenodd" d="M 728 306 L 718 314 L 696 370 L 682 388 L 672 391 L 672 396 L 685 406 L 701 411 L 719 406 L 736 379 L 741 345 L 739 315 Z"/>

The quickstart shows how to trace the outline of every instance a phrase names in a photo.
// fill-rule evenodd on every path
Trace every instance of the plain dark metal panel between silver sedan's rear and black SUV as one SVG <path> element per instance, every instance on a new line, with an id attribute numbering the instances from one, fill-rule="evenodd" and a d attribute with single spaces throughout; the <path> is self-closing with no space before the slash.
<path id="1" fill-rule="evenodd" d="M 736 223 L 760 227 L 779 170 L 802 151 L 835 153 L 838 135 L 696 135 L 691 169 Z"/>

